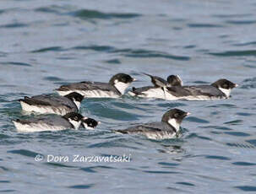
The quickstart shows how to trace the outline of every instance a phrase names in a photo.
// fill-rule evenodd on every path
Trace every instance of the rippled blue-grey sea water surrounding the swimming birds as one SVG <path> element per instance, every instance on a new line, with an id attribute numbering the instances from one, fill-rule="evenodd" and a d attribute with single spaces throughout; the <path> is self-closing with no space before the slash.
<path id="1" fill-rule="evenodd" d="M 243 193 L 255 181 L 255 1 L 3 0 L 0 6 L 0 191 L 14 193 Z M 140 73 L 184 84 L 228 78 L 230 100 L 84 100 L 95 131 L 16 132 L 18 99 L 62 84 Z M 179 139 L 111 129 L 192 113 Z M 131 156 L 130 162 L 41 162 L 35 156 Z"/>

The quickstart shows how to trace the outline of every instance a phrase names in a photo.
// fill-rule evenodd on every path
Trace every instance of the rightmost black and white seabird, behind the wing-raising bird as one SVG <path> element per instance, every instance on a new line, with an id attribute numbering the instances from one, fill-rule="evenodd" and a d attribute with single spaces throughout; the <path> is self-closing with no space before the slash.
<path id="1" fill-rule="evenodd" d="M 238 85 L 222 78 L 210 85 L 174 86 L 167 87 L 170 100 L 219 100 L 228 99 L 231 89 Z"/>

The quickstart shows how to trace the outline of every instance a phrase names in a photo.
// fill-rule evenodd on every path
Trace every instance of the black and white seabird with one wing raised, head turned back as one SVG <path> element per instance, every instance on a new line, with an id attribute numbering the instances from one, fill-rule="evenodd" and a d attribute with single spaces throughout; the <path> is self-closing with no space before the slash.
<path id="1" fill-rule="evenodd" d="M 128 92 L 132 96 L 137 96 L 141 98 L 155 98 L 155 99 L 166 99 L 170 97 L 166 94 L 166 88 L 171 86 L 182 86 L 182 79 L 178 75 L 170 75 L 165 80 L 163 78 L 152 76 L 150 74 L 145 75 L 150 76 L 152 84 L 154 86 L 145 86 L 142 88 L 134 88 Z"/>

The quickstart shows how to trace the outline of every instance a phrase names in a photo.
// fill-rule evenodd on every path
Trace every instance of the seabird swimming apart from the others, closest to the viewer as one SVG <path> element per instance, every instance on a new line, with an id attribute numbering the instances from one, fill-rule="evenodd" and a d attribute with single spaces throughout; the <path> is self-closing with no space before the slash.
<path id="1" fill-rule="evenodd" d="M 178 137 L 180 125 L 185 116 L 190 113 L 179 109 L 168 110 L 161 118 L 160 122 L 144 123 L 124 130 L 114 130 L 123 134 L 139 134 L 150 139 L 166 139 Z"/>

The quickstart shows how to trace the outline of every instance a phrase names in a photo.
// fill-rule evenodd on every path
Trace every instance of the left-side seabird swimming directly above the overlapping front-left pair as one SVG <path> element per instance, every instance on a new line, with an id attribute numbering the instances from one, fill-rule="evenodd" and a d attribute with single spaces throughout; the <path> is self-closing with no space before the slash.
<path id="1" fill-rule="evenodd" d="M 68 112 L 79 112 L 84 96 L 73 92 L 65 96 L 41 94 L 32 97 L 25 96 L 19 100 L 22 110 L 38 112 L 41 114 L 57 114 L 64 116 Z"/>

